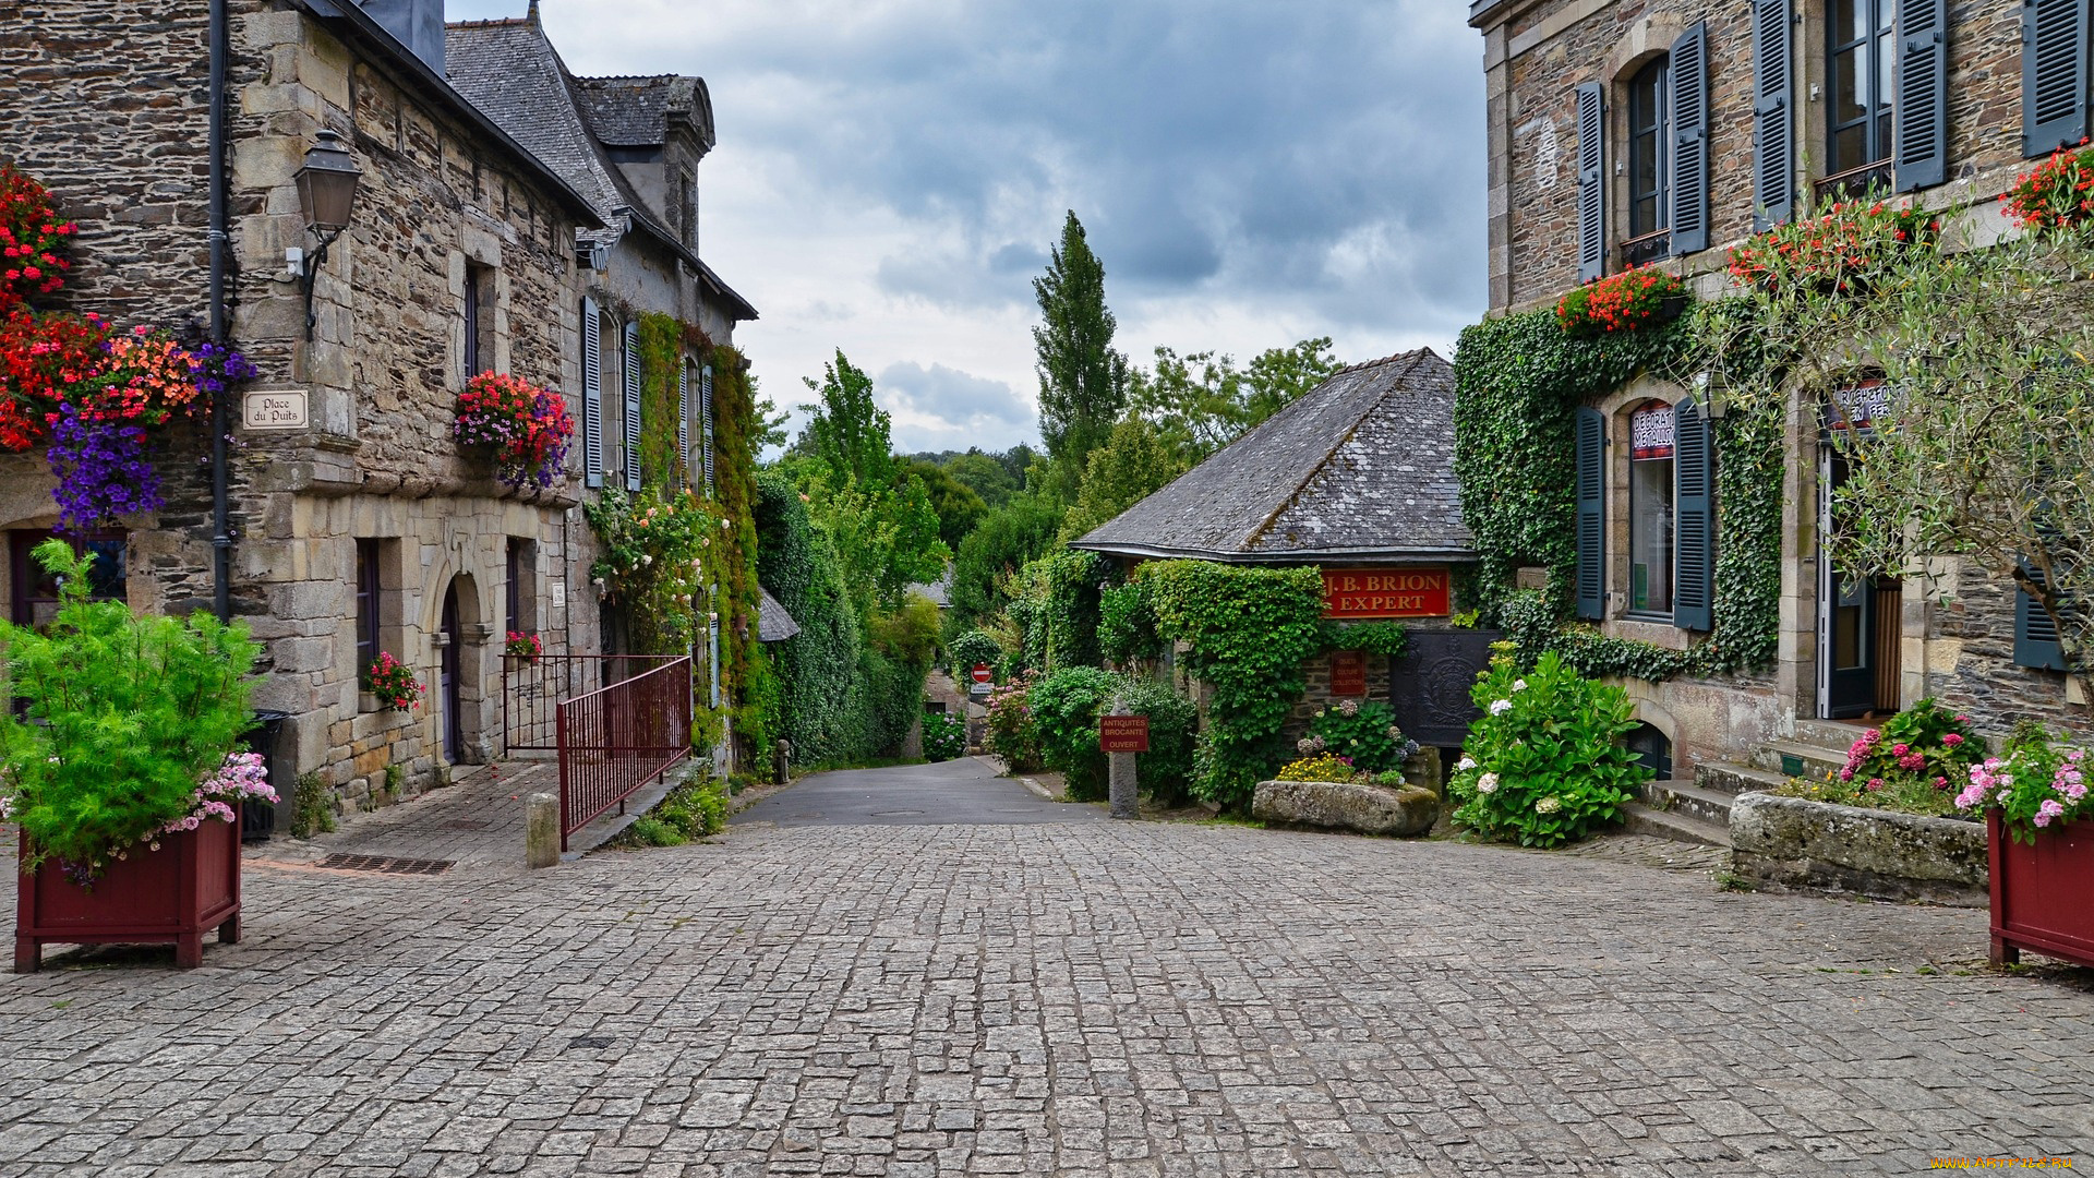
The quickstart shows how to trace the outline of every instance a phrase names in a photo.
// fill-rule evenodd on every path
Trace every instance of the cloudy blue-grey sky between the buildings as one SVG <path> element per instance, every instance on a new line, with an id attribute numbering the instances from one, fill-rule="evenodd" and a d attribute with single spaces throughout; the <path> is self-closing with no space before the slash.
<path id="1" fill-rule="evenodd" d="M 450 19 L 526 0 L 450 0 Z M 1483 310 L 1483 42 L 1449 0 L 542 0 L 576 73 L 697 73 L 701 252 L 779 405 L 842 348 L 894 442 L 1039 438 L 1074 210 L 1118 346 L 1451 352 Z"/>

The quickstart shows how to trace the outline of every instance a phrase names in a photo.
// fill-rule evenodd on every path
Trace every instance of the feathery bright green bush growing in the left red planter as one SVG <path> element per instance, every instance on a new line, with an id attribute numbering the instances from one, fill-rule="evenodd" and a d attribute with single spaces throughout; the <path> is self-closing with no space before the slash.
<path id="1" fill-rule="evenodd" d="M 0 711 L 0 811 L 29 841 L 36 870 L 57 857 L 94 866 L 197 811 L 205 778 L 226 767 L 251 723 L 247 671 L 260 646 L 245 627 L 90 602 L 92 555 L 44 541 L 59 576 L 48 633 L 0 627 L 6 677 L 23 715 Z"/>

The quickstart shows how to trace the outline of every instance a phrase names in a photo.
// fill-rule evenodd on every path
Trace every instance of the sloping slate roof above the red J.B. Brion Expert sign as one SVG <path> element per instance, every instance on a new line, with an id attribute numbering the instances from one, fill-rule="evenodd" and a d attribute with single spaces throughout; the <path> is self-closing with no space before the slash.
<path id="1" fill-rule="evenodd" d="M 1474 560 L 1453 365 L 1353 365 L 1072 547 L 1244 564 Z"/>

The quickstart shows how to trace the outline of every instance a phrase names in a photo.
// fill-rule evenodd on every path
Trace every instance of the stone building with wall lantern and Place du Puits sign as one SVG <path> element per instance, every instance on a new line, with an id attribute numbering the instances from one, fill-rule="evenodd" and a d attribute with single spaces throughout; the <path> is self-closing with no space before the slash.
<path id="1" fill-rule="evenodd" d="M 207 321 L 211 6 L 29 8 L 0 2 L 0 157 L 82 224 L 73 304 L 119 323 Z M 375 801 L 387 767 L 413 792 L 494 755 L 507 629 L 540 633 L 553 654 L 603 650 L 578 507 L 601 470 L 584 455 L 622 470 L 622 451 L 580 430 L 595 327 L 582 314 L 601 281 L 593 245 L 626 224 L 446 78 L 440 0 L 224 8 L 224 306 L 232 346 L 262 371 L 232 405 L 230 608 L 264 641 L 255 706 L 289 715 L 279 765 Z M 295 174 L 322 132 L 362 176 L 312 270 L 308 319 L 287 252 L 318 245 Z M 668 268 L 685 281 L 668 306 L 725 342 L 745 304 L 695 249 L 689 262 Z M 578 436 L 549 488 L 511 488 L 450 440 L 477 371 L 565 396 Z M 279 411 L 243 415 L 262 396 Z M 161 461 L 165 509 L 90 539 L 113 564 L 103 589 L 134 608 L 211 604 L 205 434 L 176 438 Z M 40 604 L 21 553 L 54 522 L 50 490 L 40 455 L 0 457 L 0 528 L 17 553 L 0 604 L 17 618 Z M 425 706 L 381 711 L 360 692 L 377 652 L 419 673 Z"/>

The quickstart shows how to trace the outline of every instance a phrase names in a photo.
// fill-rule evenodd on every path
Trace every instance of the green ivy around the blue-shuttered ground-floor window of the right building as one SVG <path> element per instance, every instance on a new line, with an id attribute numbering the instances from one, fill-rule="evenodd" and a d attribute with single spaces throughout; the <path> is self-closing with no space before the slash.
<path id="1" fill-rule="evenodd" d="M 1688 650 L 1621 639 L 1570 623 L 1577 572 L 1573 413 L 1642 371 L 1681 379 L 1694 342 L 1734 317 L 1702 304 L 1692 317 L 1602 337 L 1566 335 L 1552 310 L 1489 319 L 1455 348 L 1455 478 L 1476 537 L 1472 602 L 1522 658 L 1556 650 L 1585 675 L 1721 675 L 1774 658 L 1782 591 L 1782 434 L 1772 413 L 1713 421 L 1717 451 L 1715 618 Z M 1730 367 L 1740 363 L 1728 356 Z M 1541 566 L 1547 589 L 1514 591 L 1514 570 Z"/>

